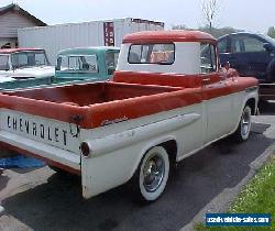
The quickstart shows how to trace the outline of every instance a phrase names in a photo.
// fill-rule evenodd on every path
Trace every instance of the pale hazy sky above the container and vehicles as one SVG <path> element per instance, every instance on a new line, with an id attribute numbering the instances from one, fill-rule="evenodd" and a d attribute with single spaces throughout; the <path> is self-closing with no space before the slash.
<path id="1" fill-rule="evenodd" d="M 74 23 L 117 18 L 140 18 L 188 28 L 204 25 L 201 0 L 0 0 L 0 7 L 11 2 L 47 24 Z M 232 26 L 266 33 L 275 26 L 274 0 L 219 0 L 216 26 Z"/>

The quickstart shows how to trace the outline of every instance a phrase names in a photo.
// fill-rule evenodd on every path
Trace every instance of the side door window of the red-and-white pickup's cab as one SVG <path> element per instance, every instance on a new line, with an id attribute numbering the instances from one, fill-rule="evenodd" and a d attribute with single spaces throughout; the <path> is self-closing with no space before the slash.
<path id="1" fill-rule="evenodd" d="M 216 47 L 212 44 L 200 44 L 200 72 L 201 74 L 217 72 Z"/>

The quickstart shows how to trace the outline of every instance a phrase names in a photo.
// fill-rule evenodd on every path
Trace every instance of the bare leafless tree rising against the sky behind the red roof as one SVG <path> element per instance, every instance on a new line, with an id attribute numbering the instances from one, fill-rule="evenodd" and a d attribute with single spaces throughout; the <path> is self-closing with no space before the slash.
<path id="1" fill-rule="evenodd" d="M 220 11 L 219 0 L 201 0 L 201 10 L 206 24 L 209 28 L 209 33 L 211 33 L 213 21 L 216 20 Z"/>

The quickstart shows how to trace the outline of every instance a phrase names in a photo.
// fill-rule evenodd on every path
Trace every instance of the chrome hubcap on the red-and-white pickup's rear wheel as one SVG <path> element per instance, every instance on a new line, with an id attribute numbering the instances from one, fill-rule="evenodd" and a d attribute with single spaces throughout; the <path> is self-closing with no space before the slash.
<path id="1" fill-rule="evenodd" d="M 155 191 L 163 182 L 165 173 L 164 160 L 158 156 L 152 156 L 144 165 L 143 186 L 146 191 Z"/>

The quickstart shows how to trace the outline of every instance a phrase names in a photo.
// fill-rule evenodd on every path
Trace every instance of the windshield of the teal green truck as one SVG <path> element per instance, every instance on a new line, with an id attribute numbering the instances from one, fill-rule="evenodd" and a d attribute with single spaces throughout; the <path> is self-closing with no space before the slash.
<path id="1" fill-rule="evenodd" d="M 98 73 L 96 55 L 70 55 L 57 58 L 56 70 Z"/>

